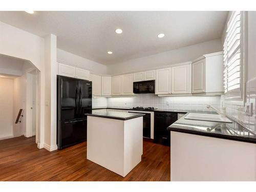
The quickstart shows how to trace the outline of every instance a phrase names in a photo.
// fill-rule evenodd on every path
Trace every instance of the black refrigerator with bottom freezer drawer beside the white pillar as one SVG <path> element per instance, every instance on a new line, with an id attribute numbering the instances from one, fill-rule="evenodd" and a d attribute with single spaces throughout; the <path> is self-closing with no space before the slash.
<path id="1" fill-rule="evenodd" d="M 57 75 L 57 146 L 87 139 L 87 116 L 92 113 L 92 81 Z"/>

